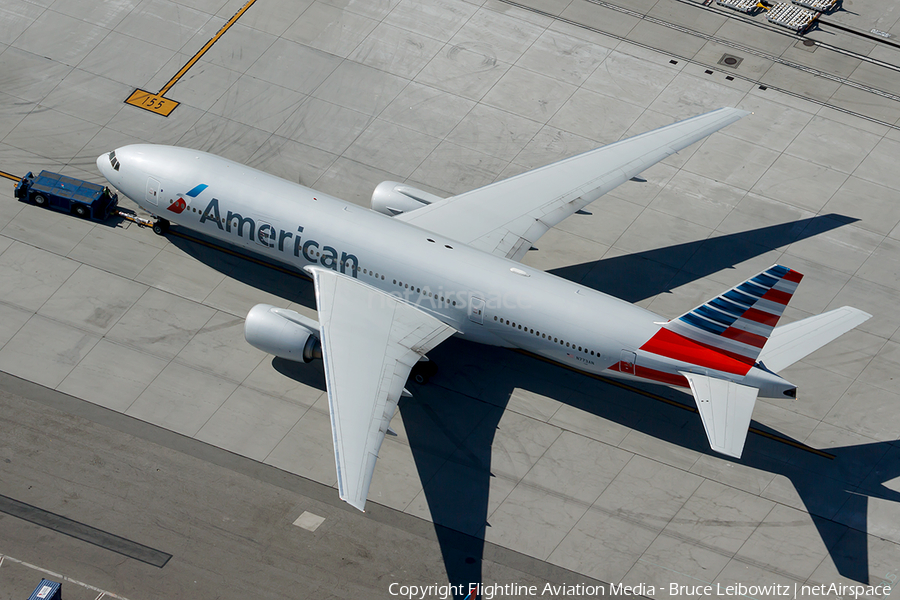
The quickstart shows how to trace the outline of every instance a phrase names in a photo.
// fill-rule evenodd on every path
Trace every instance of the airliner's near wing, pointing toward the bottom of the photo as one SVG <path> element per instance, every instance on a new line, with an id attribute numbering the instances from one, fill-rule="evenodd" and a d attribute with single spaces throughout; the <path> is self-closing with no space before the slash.
<path id="1" fill-rule="evenodd" d="M 316 286 L 338 489 L 342 500 L 364 510 L 410 370 L 455 330 L 347 275 L 307 271 Z"/>

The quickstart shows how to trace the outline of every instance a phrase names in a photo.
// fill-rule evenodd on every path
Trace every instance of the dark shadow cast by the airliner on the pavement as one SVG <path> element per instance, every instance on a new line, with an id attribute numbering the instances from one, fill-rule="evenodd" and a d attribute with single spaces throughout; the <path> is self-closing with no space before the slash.
<path id="1" fill-rule="evenodd" d="M 856 220 L 819 215 L 551 272 L 638 302 Z M 315 308 L 313 287 L 299 280 L 306 279 L 299 272 L 291 273 L 233 251 L 223 253 L 209 239 L 201 238 L 198 243 L 173 229 L 175 235 L 169 235 L 170 241 L 210 267 L 247 285 Z M 190 235 L 195 236 L 193 232 Z M 490 526 L 487 519 L 495 508 L 490 499 L 492 446 L 516 388 L 557 398 L 560 382 L 566 382 L 581 392 L 574 399 L 564 400 L 570 406 L 674 446 L 718 456 L 709 450 L 699 416 L 684 408 L 529 356 L 463 340 L 448 340 L 430 357 L 441 370 L 426 386 L 410 383 L 414 397 L 402 399 L 399 407 L 451 583 L 481 581 L 485 534 Z M 324 388 L 317 364 L 273 364 L 287 377 Z M 693 399 L 687 393 L 656 386 L 647 389 L 693 408 Z M 754 427 L 784 438 L 762 424 Z M 751 433 L 743 458 L 736 462 L 787 478 L 811 515 L 838 572 L 867 583 L 868 498 L 900 500 L 900 494 L 883 485 L 900 476 L 900 448 L 880 442 L 831 448 L 828 452 L 833 459 Z"/>

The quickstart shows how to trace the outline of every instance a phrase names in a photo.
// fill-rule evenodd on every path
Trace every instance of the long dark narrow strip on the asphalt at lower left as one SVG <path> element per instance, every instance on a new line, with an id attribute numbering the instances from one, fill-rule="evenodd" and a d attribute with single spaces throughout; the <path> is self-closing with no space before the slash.
<path id="1" fill-rule="evenodd" d="M 156 550 L 2 494 L 0 494 L 0 512 L 160 569 L 172 558 L 168 552 Z"/>

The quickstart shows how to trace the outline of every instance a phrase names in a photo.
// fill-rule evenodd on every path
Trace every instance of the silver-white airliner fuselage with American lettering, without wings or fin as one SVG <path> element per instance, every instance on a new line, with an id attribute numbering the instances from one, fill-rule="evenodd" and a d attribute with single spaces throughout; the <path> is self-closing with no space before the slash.
<path id="1" fill-rule="evenodd" d="M 100 171 L 148 212 L 271 261 L 356 277 L 465 339 L 626 379 L 686 386 L 679 371 L 709 371 L 643 352 L 666 319 L 571 281 L 204 152 L 132 145 L 115 154 L 120 168 L 102 155 Z M 790 387 L 757 367 L 716 376 L 761 396 Z"/>

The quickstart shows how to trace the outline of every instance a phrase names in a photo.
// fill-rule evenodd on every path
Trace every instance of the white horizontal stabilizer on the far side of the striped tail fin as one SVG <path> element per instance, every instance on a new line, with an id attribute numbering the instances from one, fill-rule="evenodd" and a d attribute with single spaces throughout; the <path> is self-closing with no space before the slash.
<path id="1" fill-rule="evenodd" d="M 858 308 L 844 306 L 821 315 L 776 327 L 759 360 L 770 371 L 781 371 L 812 354 L 872 317 Z"/>

